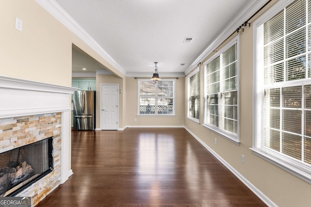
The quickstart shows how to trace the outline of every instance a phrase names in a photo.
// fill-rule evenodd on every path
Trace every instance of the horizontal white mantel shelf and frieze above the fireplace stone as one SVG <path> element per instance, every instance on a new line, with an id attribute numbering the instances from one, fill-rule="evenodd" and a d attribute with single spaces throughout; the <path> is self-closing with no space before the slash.
<path id="1" fill-rule="evenodd" d="M 0 76 L 0 118 L 70 111 L 77 88 Z"/>

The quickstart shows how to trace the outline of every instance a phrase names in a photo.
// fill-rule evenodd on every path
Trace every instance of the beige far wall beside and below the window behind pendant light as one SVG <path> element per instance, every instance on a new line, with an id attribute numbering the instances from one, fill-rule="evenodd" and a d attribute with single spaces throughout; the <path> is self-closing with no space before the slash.
<path id="1" fill-rule="evenodd" d="M 162 79 L 164 80 L 164 79 Z M 175 116 L 138 116 L 138 79 L 126 78 L 126 116 L 127 126 L 184 126 L 185 117 L 185 78 L 176 79 Z M 134 121 L 136 119 L 136 122 Z"/>

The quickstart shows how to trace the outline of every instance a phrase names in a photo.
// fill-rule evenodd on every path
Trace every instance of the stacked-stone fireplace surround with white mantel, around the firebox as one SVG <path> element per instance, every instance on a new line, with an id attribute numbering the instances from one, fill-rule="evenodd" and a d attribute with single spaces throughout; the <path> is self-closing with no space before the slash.
<path id="1" fill-rule="evenodd" d="M 69 168 L 70 94 L 74 90 L 71 87 L 0 76 L 0 153 L 17 149 L 22 154 L 22 146 L 52 139 L 51 172 L 14 195 L 32 197 L 32 206 L 72 174 Z M 19 165 L 16 168 L 31 163 L 20 161 Z"/>

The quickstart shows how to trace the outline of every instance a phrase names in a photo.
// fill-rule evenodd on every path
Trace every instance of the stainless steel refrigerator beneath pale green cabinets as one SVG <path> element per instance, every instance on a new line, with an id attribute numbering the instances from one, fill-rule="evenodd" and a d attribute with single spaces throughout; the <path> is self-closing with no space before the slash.
<path id="1" fill-rule="evenodd" d="M 95 91 L 73 93 L 73 129 L 95 129 Z"/>

